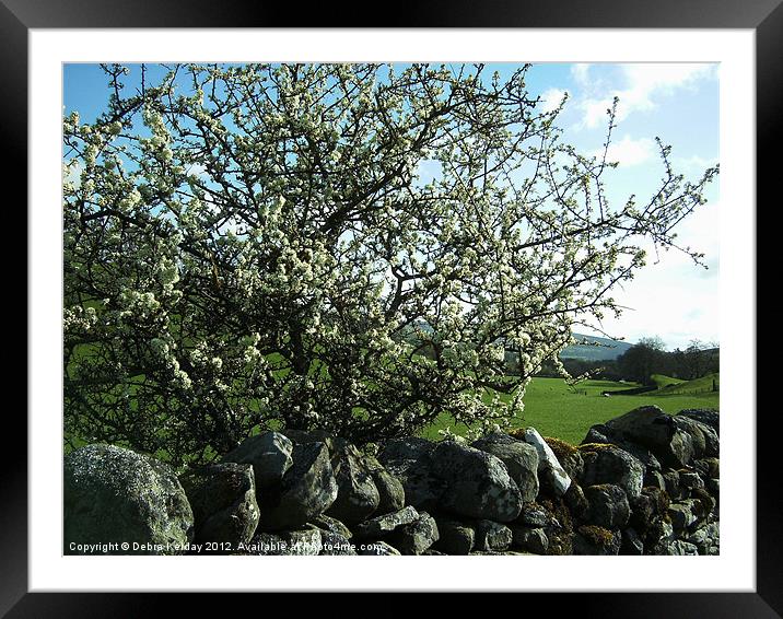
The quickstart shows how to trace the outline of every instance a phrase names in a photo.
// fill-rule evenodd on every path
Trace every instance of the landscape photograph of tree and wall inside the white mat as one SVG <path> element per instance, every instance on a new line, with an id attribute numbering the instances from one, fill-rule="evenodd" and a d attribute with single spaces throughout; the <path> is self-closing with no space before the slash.
<path id="1" fill-rule="evenodd" d="M 61 71 L 63 556 L 720 557 L 720 62 Z"/>

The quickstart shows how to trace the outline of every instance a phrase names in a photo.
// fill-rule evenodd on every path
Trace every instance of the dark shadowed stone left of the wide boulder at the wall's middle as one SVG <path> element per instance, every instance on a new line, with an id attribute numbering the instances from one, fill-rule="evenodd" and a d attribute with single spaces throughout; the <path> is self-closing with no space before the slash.
<path id="1" fill-rule="evenodd" d="M 435 510 L 446 491 L 446 482 L 430 470 L 434 448 L 431 441 L 408 436 L 388 441 L 378 455 L 378 462 L 400 481 L 405 502 L 417 510 Z"/>

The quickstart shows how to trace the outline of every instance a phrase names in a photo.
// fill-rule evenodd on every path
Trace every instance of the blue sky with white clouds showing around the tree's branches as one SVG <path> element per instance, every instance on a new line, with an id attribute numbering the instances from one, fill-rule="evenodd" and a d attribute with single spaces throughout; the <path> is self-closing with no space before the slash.
<path id="1" fill-rule="evenodd" d="M 490 66 L 501 77 L 516 65 Z M 130 67 L 128 85 L 139 79 Z M 165 71 L 148 67 L 155 81 Z M 94 120 L 106 105 L 107 78 L 97 65 L 66 65 L 63 113 L 79 112 Z M 623 201 L 631 194 L 647 196 L 659 179 L 655 137 L 671 145 L 675 171 L 697 179 L 718 161 L 718 70 L 716 65 L 686 63 L 542 63 L 527 77 L 531 95 L 545 106 L 557 106 L 564 92 L 569 101 L 558 124 L 563 139 L 584 153 L 601 149 L 611 98 L 620 98 L 617 128 L 609 157 L 620 166 L 607 178 L 609 198 Z M 647 247 L 647 267 L 618 289 L 613 296 L 628 307 L 619 319 L 607 317 L 600 327 L 628 341 L 659 336 L 667 348 L 686 347 L 691 339 L 718 341 L 718 211 L 717 183 L 708 190 L 709 202 L 682 222 L 678 241 L 705 254 L 709 270 L 694 266 L 678 252 L 659 256 Z M 581 329 L 587 331 L 587 329 Z"/>

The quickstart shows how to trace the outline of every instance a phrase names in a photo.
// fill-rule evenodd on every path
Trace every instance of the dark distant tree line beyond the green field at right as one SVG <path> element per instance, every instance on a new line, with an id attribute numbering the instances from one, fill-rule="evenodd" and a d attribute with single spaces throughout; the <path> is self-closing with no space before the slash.
<path id="1" fill-rule="evenodd" d="M 642 338 L 615 360 L 563 359 L 562 364 L 572 376 L 592 372 L 595 378 L 653 384 L 653 374 L 693 381 L 720 371 L 717 343 L 694 339 L 687 348 L 665 349 L 658 337 Z M 546 364 L 537 376 L 558 376 L 554 364 Z"/>

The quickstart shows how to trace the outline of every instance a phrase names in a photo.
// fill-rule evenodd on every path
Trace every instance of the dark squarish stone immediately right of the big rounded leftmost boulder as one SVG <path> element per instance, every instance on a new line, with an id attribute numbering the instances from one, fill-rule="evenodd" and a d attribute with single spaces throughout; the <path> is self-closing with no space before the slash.
<path id="1" fill-rule="evenodd" d="M 260 516 L 252 465 L 208 465 L 180 476 L 179 482 L 194 513 L 195 542 L 249 544 Z"/>

